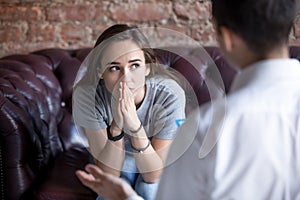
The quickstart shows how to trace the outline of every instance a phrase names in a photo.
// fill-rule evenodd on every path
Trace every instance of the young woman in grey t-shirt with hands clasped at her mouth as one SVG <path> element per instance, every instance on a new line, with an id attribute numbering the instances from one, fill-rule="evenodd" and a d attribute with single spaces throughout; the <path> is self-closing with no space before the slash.
<path id="1" fill-rule="evenodd" d="M 136 27 L 105 30 L 75 85 L 73 115 L 94 162 L 154 199 L 169 146 L 185 118 L 185 94 Z"/>

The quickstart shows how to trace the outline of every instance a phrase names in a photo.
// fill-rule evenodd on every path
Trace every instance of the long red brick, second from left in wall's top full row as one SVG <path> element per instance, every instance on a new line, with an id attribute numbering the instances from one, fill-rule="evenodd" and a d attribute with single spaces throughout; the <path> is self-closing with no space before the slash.
<path id="1" fill-rule="evenodd" d="M 48 7 L 46 10 L 49 21 L 90 21 L 101 20 L 105 12 L 101 6 L 94 5 L 62 5 Z"/>

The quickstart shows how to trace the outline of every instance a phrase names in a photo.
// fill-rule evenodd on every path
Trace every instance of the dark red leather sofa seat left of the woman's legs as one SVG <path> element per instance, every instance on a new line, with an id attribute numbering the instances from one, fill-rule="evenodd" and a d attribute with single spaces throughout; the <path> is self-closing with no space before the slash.
<path id="1" fill-rule="evenodd" d="M 84 147 L 74 147 L 61 152 L 54 162 L 53 168 L 37 181 L 25 199 L 64 199 L 85 200 L 96 199 L 92 190 L 84 187 L 75 175 L 77 169 L 84 169 L 89 163 L 89 152 Z"/>

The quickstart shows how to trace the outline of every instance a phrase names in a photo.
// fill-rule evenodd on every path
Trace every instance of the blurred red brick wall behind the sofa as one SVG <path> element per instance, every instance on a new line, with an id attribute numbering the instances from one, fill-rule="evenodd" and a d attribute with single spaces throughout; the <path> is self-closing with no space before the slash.
<path id="1" fill-rule="evenodd" d="M 214 45 L 210 17 L 209 0 L 0 0 L 0 57 L 92 46 L 115 23 L 169 28 Z M 300 17 L 290 42 L 300 45 Z"/>

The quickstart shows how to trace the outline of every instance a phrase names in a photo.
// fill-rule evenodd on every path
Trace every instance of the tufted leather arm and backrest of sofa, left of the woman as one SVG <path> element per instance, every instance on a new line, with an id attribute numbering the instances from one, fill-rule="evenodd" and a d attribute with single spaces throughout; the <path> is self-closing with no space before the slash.
<path id="1" fill-rule="evenodd" d="M 59 152 L 76 144 L 72 84 L 85 55 L 47 49 L 0 60 L 0 193 L 9 199 L 17 199 Z"/>

